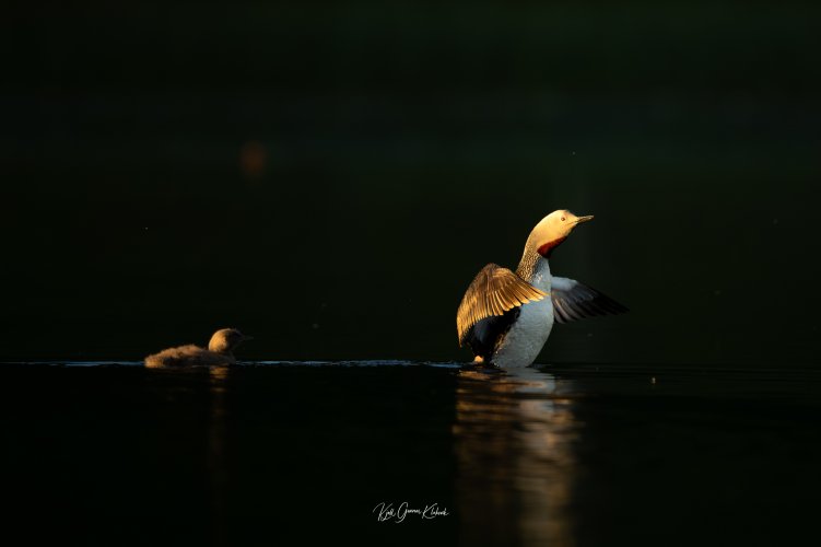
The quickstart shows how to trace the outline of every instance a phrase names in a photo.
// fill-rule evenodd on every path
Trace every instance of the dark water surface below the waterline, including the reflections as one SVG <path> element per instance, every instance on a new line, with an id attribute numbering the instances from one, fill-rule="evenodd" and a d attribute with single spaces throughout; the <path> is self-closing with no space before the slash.
<path id="1" fill-rule="evenodd" d="M 129 364 L 0 369 L 7 533 L 85 545 L 817 535 L 812 369 Z M 447 514 L 377 522 L 382 502 Z"/>

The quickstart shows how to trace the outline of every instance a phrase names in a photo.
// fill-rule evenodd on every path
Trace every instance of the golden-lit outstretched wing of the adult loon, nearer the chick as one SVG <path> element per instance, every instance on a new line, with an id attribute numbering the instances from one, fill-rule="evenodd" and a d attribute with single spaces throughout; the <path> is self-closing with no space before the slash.
<path id="1" fill-rule="evenodd" d="M 465 344 L 473 325 L 485 317 L 502 315 L 528 302 L 542 300 L 546 292 L 495 264 L 489 264 L 470 283 L 456 313 L 459 346 Z"/>

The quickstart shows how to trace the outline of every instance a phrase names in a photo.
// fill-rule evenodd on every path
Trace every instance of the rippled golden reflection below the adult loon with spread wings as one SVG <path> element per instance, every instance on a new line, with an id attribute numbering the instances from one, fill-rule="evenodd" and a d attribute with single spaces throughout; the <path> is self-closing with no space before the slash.
<path id="1" fill-rule="evenodd" d="M 567 381 L 533 369 L 465 370 L 454 435 L 464 545 L 574 545 L 580 424 Z"/>

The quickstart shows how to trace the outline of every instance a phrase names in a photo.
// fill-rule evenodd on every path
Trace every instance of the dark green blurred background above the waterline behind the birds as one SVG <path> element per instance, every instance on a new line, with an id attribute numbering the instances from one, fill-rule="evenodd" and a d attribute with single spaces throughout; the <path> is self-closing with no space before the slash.
<path id="1" fill-rule="evenodd" d="M 631 307 L 543 362 L 816 359 L 811 4 L 37 4 L 0 22 L 2 359 L 467 359 L 532 225 Z M 243 150 L 262 152 L 256 173 Z"/>

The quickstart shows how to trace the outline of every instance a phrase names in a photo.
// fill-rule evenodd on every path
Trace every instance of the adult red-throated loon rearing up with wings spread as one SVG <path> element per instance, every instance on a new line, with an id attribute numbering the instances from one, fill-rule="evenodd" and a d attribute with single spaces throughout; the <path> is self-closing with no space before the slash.
<path id="1" fill-rule="evenodd" d="M 495 264 L 482 268 L 456 314 L 459 346 L 467 342 L 476 361 L 502 368 L 529 366 L 554 321 L 568 323 L 628 311 L 578 281 L 550 275 L 552 251 L 574 228 L 591 219 L 567 210 L 553 211 L 530 232 L 515 274 Z"/>

